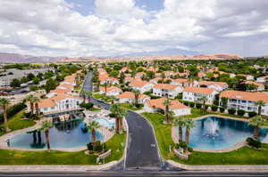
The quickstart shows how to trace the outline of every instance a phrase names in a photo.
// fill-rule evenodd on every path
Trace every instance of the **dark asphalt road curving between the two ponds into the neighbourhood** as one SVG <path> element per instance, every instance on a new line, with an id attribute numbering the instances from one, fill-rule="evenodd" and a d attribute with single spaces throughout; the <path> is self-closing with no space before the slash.
<path id="1" fill-rule="evenodd" d="M 92 91 L 92 73 L 88 73 L 83 89 Z M 104 109 L 110 105 L 91 99 L 91 101 Z M 125 170 L 162 170 L 162 160 L 158 154 L 154 131 L 147 120 L 133 111 L 129 111 L 126 117 L 129 126 L 129 143 L 127 155 L 124 162 Z"/>

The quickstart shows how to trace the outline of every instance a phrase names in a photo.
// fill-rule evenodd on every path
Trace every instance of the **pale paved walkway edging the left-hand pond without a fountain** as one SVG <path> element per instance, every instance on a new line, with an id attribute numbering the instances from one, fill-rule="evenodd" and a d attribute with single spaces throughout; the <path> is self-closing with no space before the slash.
<path id="1" fill-rule="evenodd" d="M 31 126 L 29 128 L 24 128 L 21 130 L 13 131 L 11 133 L 6 133 L 6 134 L 0 136 L 0 149 L 27 150 L 27 151 L 44 151 L 44 150 L 46 150 L 45 148 L 44 149 L 27 149 L 27 148 L 9 147 L 9 146 L 7 146 L 7 143 L 6 143 L 7 140 L 12 139 L 12 137 L 17 135 L 17 134 L 26 133 L 26 132 L 35 130 L 37 128 L 40 128 L 42 125 L 42 122 L 44 120 L 46 120 L 46 118 L 39 120 L 36 125 Z M 98 131 L 104 132 L 105 141 L 110 140 L 114 135 L 114 131 L 111 132 L 108 130 L 108 128 L 100 128 L 100 129 L 98 129 Z M 81 151 L 81 150 L 86 150 L 86 149 L 87 149 L 86 144 L 84 147 L 76 147 L 76 148 L 55 148 L 55 149 L 51 148 L 51 150 L 59 150 L 59 151 L 66 151 L 66 152 L 75 152 L 75 151 Z"/>

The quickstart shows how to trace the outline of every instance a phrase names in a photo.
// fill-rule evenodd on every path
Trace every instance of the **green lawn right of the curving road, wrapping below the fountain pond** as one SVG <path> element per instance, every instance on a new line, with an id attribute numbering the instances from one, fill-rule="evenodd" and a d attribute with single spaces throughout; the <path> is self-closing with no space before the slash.
<path id="1" fill-rule="evenodd" d="M 263 149 L 256 150 L 243 147 L 227 153 L 193 152 L 189 160 L 181 160 L 169 151 L 172 141 L 172 126 L 163 125 L 164 117 L 156 113 L 142 113 L 154 126 L 156 139 L 162 156 L 181 164 L 188 165 L 268 165 L 268 144 Z"/>

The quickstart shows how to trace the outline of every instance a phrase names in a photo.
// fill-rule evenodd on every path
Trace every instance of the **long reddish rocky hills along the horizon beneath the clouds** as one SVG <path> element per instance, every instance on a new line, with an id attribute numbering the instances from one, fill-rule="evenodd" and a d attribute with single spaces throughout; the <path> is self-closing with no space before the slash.
<path id="1" fill-rule="evenodd" d="M 150 52 L 151 53 L 151 52 Z M 163 53 L 163 52 L 159 52 Z M 137 54 L 137 53 L 136 53 Z M 147 54 L 117 57 L 44 57 L 21 55 L 17 53 L 0 52 L 0 63 L 31 63 L 31 62 L 58 62 L 58 61 L 111 61 L 111 60 L 230 60 L 243 59 L 238 54 Z"/>

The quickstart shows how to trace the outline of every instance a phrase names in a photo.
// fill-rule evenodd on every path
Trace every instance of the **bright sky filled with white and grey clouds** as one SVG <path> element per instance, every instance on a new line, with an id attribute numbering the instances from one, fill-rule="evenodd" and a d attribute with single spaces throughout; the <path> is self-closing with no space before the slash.
<path id="1" fill-rule="evenodd" d="M 266 0 L 1 0 L 0 52 L 261 56 L 268 54 L 267 9 Z"/>

